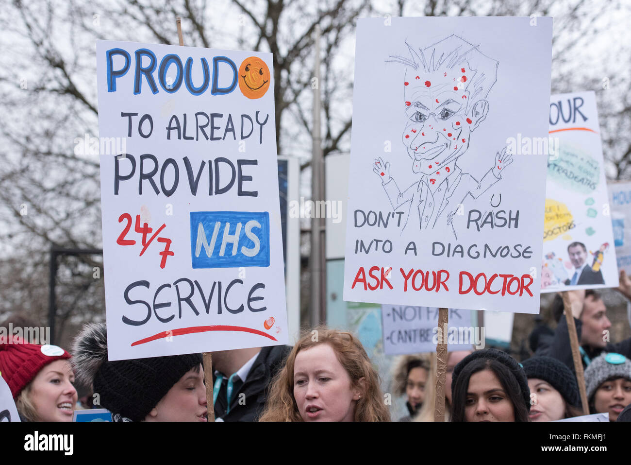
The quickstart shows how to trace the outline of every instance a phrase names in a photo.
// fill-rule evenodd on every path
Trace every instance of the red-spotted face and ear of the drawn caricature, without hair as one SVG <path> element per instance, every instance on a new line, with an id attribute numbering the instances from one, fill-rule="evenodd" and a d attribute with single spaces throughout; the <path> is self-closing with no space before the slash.
<path id="1" fill-rule="evenodd" d="M 464 83 L 475 74 L 466 65 L 432 73 L 407 69 L 403 92 L 408 123 L 403 143 L 413 159 L 413 172 L 432 174 L 466 152 L 469 137 L 488 111 L 478 100 L 466 114 L 469 91 Z"/>

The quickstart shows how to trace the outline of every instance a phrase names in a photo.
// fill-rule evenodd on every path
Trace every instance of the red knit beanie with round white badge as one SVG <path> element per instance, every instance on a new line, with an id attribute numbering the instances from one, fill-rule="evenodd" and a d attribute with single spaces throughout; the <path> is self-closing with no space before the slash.
<path id="1" fill-rule="evenodd" d="M 0 371 L 14 400 L 44 366 L 69 358 L 70 354 L 58 346 L 28 344 L 15 335 L 0 337 Z"/>

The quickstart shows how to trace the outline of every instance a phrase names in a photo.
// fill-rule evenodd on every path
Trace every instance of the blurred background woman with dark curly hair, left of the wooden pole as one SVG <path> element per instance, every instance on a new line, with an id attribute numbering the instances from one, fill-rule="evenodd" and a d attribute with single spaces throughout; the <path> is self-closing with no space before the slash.
<path id="1" fill-rule="evenodd" d="M 401 356 L 395 365 L 392 377 L 394 394 L 406 394 L 409 415 L 399 421 L 410 421 L 418 413 L 425 401 L 425 385 L 430 371 L 429 354 L 411 354 Z"/>

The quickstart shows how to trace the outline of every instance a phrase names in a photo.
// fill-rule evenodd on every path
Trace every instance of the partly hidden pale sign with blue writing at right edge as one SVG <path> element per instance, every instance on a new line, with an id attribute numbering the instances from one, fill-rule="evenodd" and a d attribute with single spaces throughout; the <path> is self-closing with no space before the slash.
<path id="1" fill-rule="evenodd" d="M 608 187 L 618 270 L 631 275 L 631 183 L 609 183 Z"/>

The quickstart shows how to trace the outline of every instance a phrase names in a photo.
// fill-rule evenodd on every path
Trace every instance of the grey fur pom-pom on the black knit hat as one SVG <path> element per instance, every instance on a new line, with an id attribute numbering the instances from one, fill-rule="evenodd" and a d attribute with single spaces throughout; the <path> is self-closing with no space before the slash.
<path id="1" fill-rule="evenodd" d="M 90 386 L 97 371 L 107 361 L 107 329 L 105 323 L 88 323 L 74 339 L 71 347 L 75 377 Z"/>

